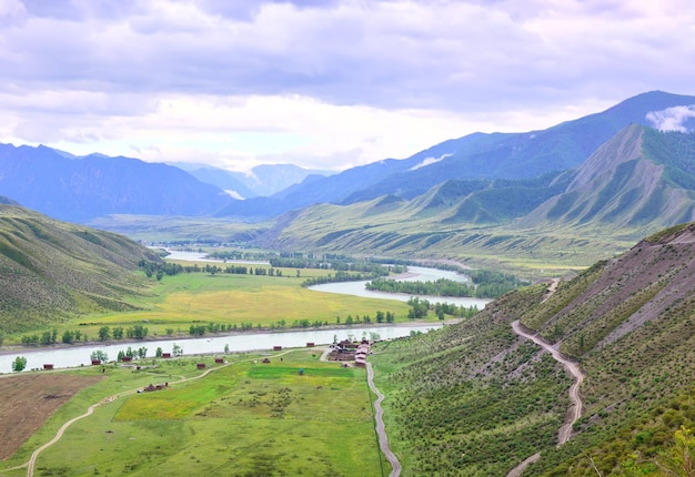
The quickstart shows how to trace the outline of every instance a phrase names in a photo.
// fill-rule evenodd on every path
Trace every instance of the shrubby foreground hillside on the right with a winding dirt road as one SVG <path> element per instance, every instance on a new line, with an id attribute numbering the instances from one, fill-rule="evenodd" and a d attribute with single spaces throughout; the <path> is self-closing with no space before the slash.
<path id="1" fill-rule="evenodd" d="M 674 435 L 695 426 L 694 296 L 689 223 L 550 296 L 545 285 L 512 292 L 473 319 L 383 345 L 372 362 L 404 475 L 505 475 L 535 453 L 524 476 L 686 475 L 659 466 L 675 468 Z M 516 319 L 586 375 L 582 418 L 560 447 L 571 378 L 512 331 Z"/>

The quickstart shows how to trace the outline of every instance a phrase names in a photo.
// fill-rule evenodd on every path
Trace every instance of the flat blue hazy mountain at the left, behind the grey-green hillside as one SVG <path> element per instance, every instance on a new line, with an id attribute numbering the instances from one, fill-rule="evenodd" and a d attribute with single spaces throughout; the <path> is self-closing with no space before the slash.
<path id="1" fill-rule="evenodd" d="M 73 222 L 112 213 L 209 214 L 230 200 L 170 165 L 11 144 L 0 144 L 0 194 Z"/>

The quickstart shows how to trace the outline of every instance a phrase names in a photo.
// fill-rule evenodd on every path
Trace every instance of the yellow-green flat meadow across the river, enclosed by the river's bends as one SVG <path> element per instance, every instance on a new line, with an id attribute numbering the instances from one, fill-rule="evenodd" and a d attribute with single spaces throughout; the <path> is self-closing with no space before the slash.
<path id="1" fill-rule="evenodd" d="M 83 315 L 47 329 L 56 328 L 59 342 L 66 331 L 80 331 L 94 342 L 102 326 L 142 325 L 152 337 L 167 336 L 168 331 L 173 336 L 187 336 L 191 325 L 209 323 L 241 329 L 242 325 L 290 328 L 302 321 L 308 321 L 309 326 L 335 325 L 338 317 L 344 324 L 348 316 L 370 316 L 375 321 L 377 311 L 390 311 L 396 321 L 407 321 L 405 303 L 319 293 L 301 286 L 304 280 L 329 271 L 303 270 L 300 277 L 295 270 L 282 272 L 283 276 L 182 273 L 164 276 L 161 282 L 152 278 L 148 296 L 128 298 L 138 311 Z M 33 333 L 41 335 L 43 331 L 30 334 Z M 4 343 L 17 344 L 20 339 L 19 334 L 8 335 Z"/>

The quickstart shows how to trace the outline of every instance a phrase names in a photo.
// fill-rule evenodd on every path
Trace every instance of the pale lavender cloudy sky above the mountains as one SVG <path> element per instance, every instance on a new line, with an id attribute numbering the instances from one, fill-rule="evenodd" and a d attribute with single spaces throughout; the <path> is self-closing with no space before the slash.
<path id="1" fill-rule="evenodd" d="M 340 171 L 695 94 L 691 0 L 0 0 L 0 142 Z"/>

